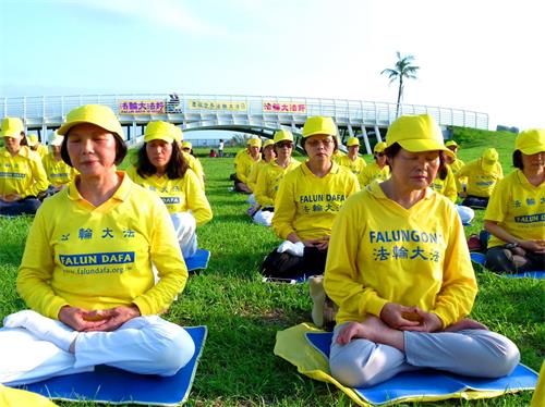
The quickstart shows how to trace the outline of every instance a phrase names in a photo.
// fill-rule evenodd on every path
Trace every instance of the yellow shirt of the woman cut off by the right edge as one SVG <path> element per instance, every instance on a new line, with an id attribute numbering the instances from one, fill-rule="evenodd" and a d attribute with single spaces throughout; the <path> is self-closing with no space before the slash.
<path id="1" fill-rule="evenodd" d="M 497 222 L 517 238 L 545 239 L 545 183 L 534 186 L 521 170 L 514 170 L 498 181 L 484 219 Z M 492 235 L 488 247 L 506 243 Z"/>

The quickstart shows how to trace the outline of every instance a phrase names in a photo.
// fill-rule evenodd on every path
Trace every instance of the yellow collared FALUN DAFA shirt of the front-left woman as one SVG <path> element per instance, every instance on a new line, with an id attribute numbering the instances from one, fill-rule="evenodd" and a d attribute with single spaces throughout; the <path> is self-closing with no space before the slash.
<path id="1" fill-rule="evenodd" d="M 142 314 L 156 314 L 185 286 L 187 269 L 167 208 L 118 174 L 121 185 L 99 207 L 82 198 L 78 176 L 44 200 L 17 274 L 17 292 L 32 309 L 57 319 L 65 305 L 94 310 L 135 304 Z"/>

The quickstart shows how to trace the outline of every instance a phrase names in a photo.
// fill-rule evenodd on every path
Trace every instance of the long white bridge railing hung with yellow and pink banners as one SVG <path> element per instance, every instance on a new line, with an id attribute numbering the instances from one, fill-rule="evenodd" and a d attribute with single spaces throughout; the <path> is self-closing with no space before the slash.
<path id="1" fill-rule="evenodd" d="M 380 101 L 326 99 L 283 96 L 233 96 L 233 95 L 165 95 L 165 94 L 126 94 L 126 95 L 75 95 L 75 96 L 31 96 L 0 98 L 0 118 L 17 116 L 26 123 L 47 124 L 62 121 L 66 113 L 82 104 L 99 103 L 109 106 L 120 114 L 120 103 L 128 100 L 157 100 L 166 103 L 169 119 L 191 121 L 203 115 L 232 116 L 275 116 L 291 115 L 301 120 L 311 115 L 328 115 L 338 122 L 389 125 L 397 113 L 397 104 Z M 227 108 L 222 108 L 222 107 Z M 301 109 L 283 110 L 283 107 Z M 211 107 L 211 108 L 210 108 Z M 237 107 L 237 108 L 233 108 Z M 170 111 L 169 111 L 170 109 Z M 432 114 L 441 125 L 488 128 L 488 114 L 483 112 L 434 107 L 423 104 L 399 106 L 399 114 Z M 120 114 L 125 120 L 137 120 L 141 114 Z M 154 115 L 156 116 L 156 115 Z"/>

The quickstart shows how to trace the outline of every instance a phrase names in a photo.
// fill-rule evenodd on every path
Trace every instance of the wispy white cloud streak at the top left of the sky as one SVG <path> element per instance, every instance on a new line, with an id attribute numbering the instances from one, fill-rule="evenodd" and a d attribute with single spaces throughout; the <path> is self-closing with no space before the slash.
<path id="1" fill-rule="evenodd" d="M 185 34 L 226 36 L 226 29 L 207 24 L 194 15 L 180 0 L 76 0 L 82 7 L 117 14 L 119 17 L 137 18 Z"/>

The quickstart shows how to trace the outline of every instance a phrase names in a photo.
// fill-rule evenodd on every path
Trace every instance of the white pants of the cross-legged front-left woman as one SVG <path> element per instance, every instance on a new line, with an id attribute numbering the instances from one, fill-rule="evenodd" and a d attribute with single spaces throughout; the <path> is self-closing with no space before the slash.
<path id="1" fill-rule="evenodd" d="M 63 329 L 72 331 L 60 321 Z M 108 365 L 141 374 L 173 375 L 195 344 L 181 326 L 157 316 L 134 318 L 113 332 L 82 332 L 75 354 L 40 341 L 23 328 L 0 329 L 0 383 L 19 385 Z"/>

